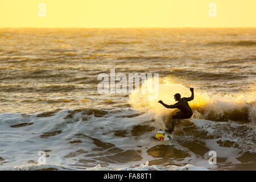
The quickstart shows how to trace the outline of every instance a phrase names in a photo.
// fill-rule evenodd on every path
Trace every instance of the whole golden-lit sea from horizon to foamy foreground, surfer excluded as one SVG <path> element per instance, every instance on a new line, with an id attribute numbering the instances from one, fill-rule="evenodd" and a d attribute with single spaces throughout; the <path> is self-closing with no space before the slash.
<path id="1" fill-rule="evenodd" d="M 255 63 L 256 28 L 1 28 L 0 170 L 255 170 Z M 110 69 L 158 73 L 158 97 L 99 93 Z"/>

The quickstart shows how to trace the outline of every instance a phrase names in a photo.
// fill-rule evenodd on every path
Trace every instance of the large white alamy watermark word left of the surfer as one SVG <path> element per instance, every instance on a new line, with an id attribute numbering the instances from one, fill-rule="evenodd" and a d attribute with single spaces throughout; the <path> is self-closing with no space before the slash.
<path id="1" fill-rule="evenodd" d="M 98 84 L 98 93 L 142 93 L 148 94 L 148 99 L 158 98 L 159 74 L 154 73 L 129 73 L 128 77 L 124 73 L 115 73 L 115 69 L 110 69 L 109 75 L 100 73 L 97 80 L 101 80 Z M 115 83 L 119 81 L 118 83 Z M 140 84 L 141 83 L 141 84 Z M 134 88 L 135 86 L 135 88 Z"/>

